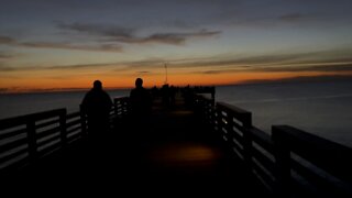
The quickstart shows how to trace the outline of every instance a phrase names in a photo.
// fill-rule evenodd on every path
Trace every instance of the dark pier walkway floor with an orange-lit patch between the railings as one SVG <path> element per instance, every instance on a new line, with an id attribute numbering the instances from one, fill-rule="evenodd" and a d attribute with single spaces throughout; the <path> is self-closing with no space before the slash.
<path id="1" fill-rule="evenodd" d="M 182 97 L 173 107 L 155 100 L 143 123 L 125 119 L 116 124 L 100 141 L 79 140 L 25 168 L 15 184 L 50 188 L 61 184 L 61 189 L 85 187 L 85 191 L 99 189 L 107 195 L 264 193 L 243 162 L 229 153 L 221 136 Z"/>

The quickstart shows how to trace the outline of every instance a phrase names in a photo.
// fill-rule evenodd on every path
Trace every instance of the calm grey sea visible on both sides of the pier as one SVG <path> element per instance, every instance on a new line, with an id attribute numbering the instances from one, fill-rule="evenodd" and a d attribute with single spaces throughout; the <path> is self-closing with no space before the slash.
<path id="1" fill-rule="evenodd" d="M 112 98 L 129 95 L 108 92 Z M 85 94 L 0 95 L 0 119 L 56 108 L 77 111 Z M 289 124 L 352 147 L 352 80 L 217 87 L 216 99 L 251 111 L 254 125 L 267 133 L 273 124 Z"/>

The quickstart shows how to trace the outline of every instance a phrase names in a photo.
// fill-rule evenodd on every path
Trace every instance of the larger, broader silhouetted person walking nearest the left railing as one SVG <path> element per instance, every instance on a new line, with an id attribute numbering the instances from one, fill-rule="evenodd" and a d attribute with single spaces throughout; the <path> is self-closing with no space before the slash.
<path id="1" fill-rule="evenodd" d="M 94 87 L 86 94 L 81 108 L 88 117 L 89 136 L 107 135 L 109 131 L 109 114 L 112 107 L 110 96 L 102 89 L 100 80 L 94 81 Z"/>

